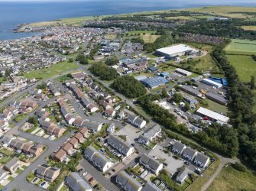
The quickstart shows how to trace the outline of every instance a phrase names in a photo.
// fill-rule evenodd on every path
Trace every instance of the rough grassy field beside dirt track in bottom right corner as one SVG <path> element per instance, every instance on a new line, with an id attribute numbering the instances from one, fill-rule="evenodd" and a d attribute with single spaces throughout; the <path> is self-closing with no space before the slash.
<path id="1" fill-rule="evenodd" d="M 256 175 L 240 172 L 231 165 L 224 167 L 207 191 L 255 190 Z"/>

